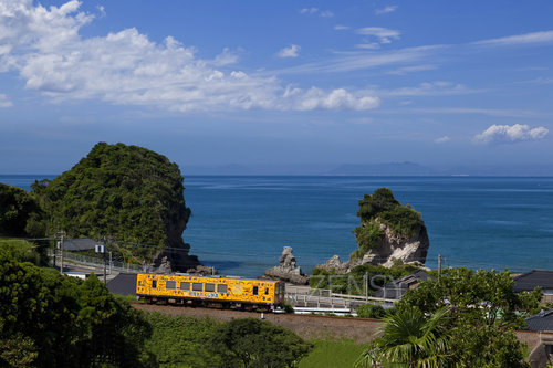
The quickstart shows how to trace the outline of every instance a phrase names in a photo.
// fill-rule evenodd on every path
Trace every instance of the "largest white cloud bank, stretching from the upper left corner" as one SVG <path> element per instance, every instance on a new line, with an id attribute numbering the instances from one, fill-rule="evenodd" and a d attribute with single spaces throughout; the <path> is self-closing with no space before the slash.
<path id="1" fill-rule="evenodd" d="M 75 0 L 48 9 L 0 0 L 0 72 L 18 72 L 27 88 L 54 102 L 95 98 L 177 112 L 378 106 L 371 92 L 342 88 L 294 88 L 292 97 L 273 75 L 228 69 L 238 56 L 227 49 L 202 60 L 171 36 L 156 43 L 134 28 L 84 38 L 80 29 L 94 17 L 79 9 Z"/>

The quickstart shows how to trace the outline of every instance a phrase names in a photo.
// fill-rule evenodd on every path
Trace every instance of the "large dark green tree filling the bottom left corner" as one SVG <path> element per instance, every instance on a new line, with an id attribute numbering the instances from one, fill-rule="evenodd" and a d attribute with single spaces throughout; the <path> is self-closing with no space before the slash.
<path id="1" fill-rule="evenodd" d="M 0 366 L 142 366 L 149 329 L 137 311 L 95 276 L 82 282 L 22 256 L 0 252 Z"/>

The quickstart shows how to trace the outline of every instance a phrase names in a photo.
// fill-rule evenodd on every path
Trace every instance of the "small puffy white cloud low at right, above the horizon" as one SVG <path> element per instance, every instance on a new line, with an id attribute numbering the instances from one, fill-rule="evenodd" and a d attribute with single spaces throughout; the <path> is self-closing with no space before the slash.
<path id="1" fill-rule="evenodd" d="M 544 139 L 549 129 L 543 126 L 531 128 L 526 124 L 492 125 L 476 135 L 473 140 L 481 144 L 513 144 Z"/>

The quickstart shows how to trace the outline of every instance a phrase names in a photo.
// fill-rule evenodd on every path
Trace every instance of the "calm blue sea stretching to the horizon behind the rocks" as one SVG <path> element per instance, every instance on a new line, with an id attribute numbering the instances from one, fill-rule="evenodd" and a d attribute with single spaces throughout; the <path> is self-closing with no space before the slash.
<path id="1" fill-rule="evenodd" d="M 1 176 L 29 189 L 52 176 Z M 187 176 L 192 215 L 184 233 L 206 265 L 257 276 L 294 249 L 310 272 L 356 249 L 357 201 L 388 187 L 422 214 L 430 236 L 427 265 L 551 269 L 553 178 L 490 177 L 215 177 Z"/>

